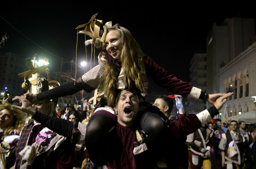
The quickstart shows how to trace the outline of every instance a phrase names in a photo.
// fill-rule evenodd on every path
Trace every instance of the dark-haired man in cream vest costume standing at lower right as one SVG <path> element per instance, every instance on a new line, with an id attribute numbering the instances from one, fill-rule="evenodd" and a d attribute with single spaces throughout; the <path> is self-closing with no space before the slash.
<path id="1" fill-rule="evenodd" d="M 227 169 L 242 169 L 244 166 L 245 138 L 237 131 L 238 122 L 230 121 L 227 133 L 221 135 L 219 149 L 221 149 L 221 165 Z"/>

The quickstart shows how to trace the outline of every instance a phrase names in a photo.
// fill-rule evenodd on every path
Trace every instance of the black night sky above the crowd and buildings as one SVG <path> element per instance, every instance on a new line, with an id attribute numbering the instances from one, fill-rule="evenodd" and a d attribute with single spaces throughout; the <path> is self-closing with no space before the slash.
<path id="1" fill-rule="evenodd" d="M 145 54 L 170 74 L 189 81 L 189 60 L 195 51 L 206 50 L 207 33 L 213 23 L 222 23 L 227 17 L 255 17 L 255 12 L 248 10 L 250 6 L 242 8 L 241 5 L 231 8 L 223 4 L 204 6 L 185 2 L 171 5 L 162 1 L 143 5 L 137 4 L 140 1 L 114 2 L 2 2 L 0 36 L 7 33 L 9 38 L 0 51 L 24 55 L 24 59 L 34 54 L 48 57 L 50 71 L 59 71 L 61 58 L 64 61 L 76 60 L 76 27 L 87 23 L 93 14 L 98 13 L 96 19 L 103 20 L 104 24 L 108 21 L 119 23 L 129 29 Z M 88 51 L 87 57 L 90 57 Z M 77 62 L 84 58 L 84 35 L 79 34 Z M 151 85 L 150 89 L 155 88 Z"/>

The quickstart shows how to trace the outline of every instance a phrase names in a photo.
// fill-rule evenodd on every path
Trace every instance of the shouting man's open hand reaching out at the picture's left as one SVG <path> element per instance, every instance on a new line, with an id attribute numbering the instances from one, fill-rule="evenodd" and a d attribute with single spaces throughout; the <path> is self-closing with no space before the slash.
<path id="1" fill-rule="evenodd" d="M 35 115 L 35 109 L 32 107 L 32 103 L 25 98 L 25 96 L 15 96 L 12 100 L 20 100 L 22 106 L 12 105 L 14 109 L 19 109 L 22 112 L 28 113 L 30 115 Z"/>

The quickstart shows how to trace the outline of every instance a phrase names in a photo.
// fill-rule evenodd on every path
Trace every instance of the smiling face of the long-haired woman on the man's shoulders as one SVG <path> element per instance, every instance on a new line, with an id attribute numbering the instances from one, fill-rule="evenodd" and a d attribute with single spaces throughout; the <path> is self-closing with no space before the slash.
<path id="1" fill-rule="evenodd" d="M 116 60 L 121 59 L 122 37 L 116 30 L 110 30 L 105 39 L 106 50 Z"/>

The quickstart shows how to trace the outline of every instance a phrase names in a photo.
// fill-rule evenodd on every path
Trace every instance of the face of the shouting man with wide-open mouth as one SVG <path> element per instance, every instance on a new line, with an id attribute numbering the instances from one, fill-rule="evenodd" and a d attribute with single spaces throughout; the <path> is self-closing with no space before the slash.
<path id="1" fill-rule="evenodd" d="M 117 121 L 122 126 L 132 126 L 136 120 L 138 109 L 139 103 L 137 97 L 129 91 L 122 91 L 115 105 Z"/>

